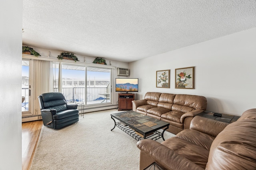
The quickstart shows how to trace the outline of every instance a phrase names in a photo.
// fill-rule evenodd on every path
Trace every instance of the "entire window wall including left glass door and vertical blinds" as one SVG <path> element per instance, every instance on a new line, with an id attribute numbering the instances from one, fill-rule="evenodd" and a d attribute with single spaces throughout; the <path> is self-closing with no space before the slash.
<path id="1" fill-rule="evenodd" d="M 35 59 L 28 55 L 22 55 L 22 58 L 22 121 L 40 118 L 38 96 L 46 92 L 62 92 L 67 102 L 82 103 L 87 108 L 113 104 L 114 66 L 45 57 Z"/>

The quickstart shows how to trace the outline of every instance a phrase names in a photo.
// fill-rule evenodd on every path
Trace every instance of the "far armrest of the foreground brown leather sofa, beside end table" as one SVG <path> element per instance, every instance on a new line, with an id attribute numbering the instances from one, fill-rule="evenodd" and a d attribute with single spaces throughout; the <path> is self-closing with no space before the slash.
<path id="1" fill-rule="evenodd" d="M 226 122 L 195 116 L 190 123 L 190 129 L 216 137 L 227 125 Z"/>

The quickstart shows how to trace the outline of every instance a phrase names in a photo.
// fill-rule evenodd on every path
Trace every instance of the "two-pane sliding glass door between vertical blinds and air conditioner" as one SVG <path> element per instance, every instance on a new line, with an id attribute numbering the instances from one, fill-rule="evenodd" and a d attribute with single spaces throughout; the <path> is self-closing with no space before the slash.
<path id="1" fill-rule="evenodd" d="M 111 68 L 62 64 L 61 70 L 62 93 L 67 102 L 84 103 L 85 106 L 112 102 Z"/>

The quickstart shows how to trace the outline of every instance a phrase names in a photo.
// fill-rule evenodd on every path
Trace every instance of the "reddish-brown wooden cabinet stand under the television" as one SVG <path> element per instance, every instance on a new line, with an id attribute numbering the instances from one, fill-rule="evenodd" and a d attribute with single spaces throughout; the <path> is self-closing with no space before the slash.
<path id="1" fill-rule="evenodd" d="M 118 111 L 120 110 L 132 110 L 132 100 L 134 100 L 134 94 L 132 93 L 119 93 L 118 94 Z"/>

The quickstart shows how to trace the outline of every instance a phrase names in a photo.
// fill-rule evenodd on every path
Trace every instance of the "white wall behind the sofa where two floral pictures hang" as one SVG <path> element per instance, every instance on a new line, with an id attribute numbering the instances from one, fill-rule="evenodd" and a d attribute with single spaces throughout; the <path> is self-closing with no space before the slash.
<path id="1" fill-rule="evenodd" d="M 207 110 L 241 115 L 256 108 L 256 28 L 129 64 L 139 78 L 136 100 L 146 92 L 205 96 Z M 175 68 L 195 66 L 195 89 L 175 89 Z M 170 88 L 156 88 L 156 71 L 170 69 Z"/>

